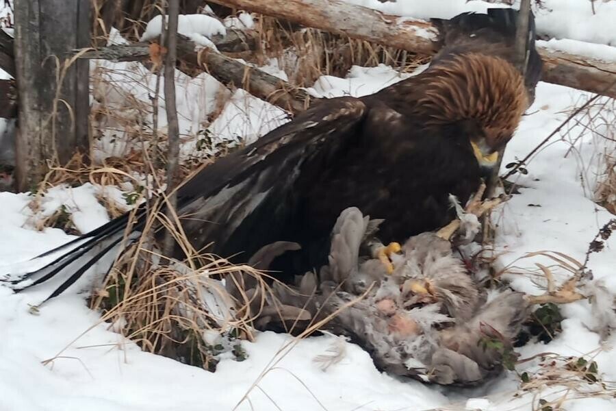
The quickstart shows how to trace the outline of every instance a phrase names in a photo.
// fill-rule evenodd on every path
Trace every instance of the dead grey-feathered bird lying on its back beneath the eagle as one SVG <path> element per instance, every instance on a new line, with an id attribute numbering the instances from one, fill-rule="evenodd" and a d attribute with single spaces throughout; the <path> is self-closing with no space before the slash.
<path id="1" fill-rule="evenodd" d="M 322 328 L 370 352 L 376 366 L 400 376 L 437 384 L 473 385 L 502 371 L 511 340 L 526 319 L 524 295 L 504 291 L 486 303 L 485 295 L 452 255 L 450 242 L 434 233 L 413 236 L 383 264 L 371 222 L 357 208 L 340 214 L 332 232 L 329 264 L 320 275 L 306 273 L 292 286 L 274 283 L 253 300 L 259 329 Z M 284 249 L 274 243 L 259 251 L 260 261 Z M 362 250 L 372 249 L 372 255 Z M 375 251 L 376 250 L 376 251 Z M 266 267 L 261 266 L 261 269 Z M 229 291 L 238 290 L 227 282 Z M 259 303 L 255 303 L 259 301 Z M 277 315 L 278 314 L 278 315 Z M 499 340 L 500 344 L 490 344 Z"/>

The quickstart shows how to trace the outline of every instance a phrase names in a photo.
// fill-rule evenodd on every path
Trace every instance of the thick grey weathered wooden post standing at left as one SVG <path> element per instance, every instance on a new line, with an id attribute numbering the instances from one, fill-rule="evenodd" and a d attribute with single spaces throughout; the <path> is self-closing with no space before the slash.
<path id="1" fill-rule="evenodd" d="M 73 49 L 90 46 L 90 1 L 14 4 L 19 190 L 40 182 L 49 164 L 88 149 L 88 61 L 66 62 Z"/>

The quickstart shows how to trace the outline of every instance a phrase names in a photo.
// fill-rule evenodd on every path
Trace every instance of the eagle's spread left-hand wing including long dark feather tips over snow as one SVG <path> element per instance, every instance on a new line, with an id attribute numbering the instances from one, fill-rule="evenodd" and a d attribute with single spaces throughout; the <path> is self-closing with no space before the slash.
<path id="1" fill-rule="evenodd" d="M 300 169 L 317 153 L 335 157 L 355 137 L 365 111 L 364 103 L 352 97 L 323 101 L 252 145 L 198 171 L 178 190 L 178 214 L 190 240 L 196 245 L 214 240 L 214 248 L 208 251 L 224 251 L 229 242 L 242 238 L 262 237 L 261 245 L 272 242 L 270 238 L 276 239 L 294 206 L 293 188 Z M 146 213 L 136 215 L 131 231 L 138 234 Z M 55 297 L 122 242 L 128 221 L 129 213 L 34 258 L 68 250 L 42 269 L 15 273 L 0 281 L 23 290 L 70 272 L 51 295 Z M 248 232 L 252 235 L 246 236 Z M 133 234 L 132 240 L 135 238 Z M 248 241 L 233 247 L 242 251 L 253 248 Z M 245 260 L 248 257 L 250 254 Z"/>

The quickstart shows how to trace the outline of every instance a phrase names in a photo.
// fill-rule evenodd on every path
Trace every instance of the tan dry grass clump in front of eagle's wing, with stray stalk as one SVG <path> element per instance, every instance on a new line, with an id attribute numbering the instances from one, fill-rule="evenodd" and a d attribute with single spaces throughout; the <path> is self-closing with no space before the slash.
<path id="1" fill-rule="evenodd" d="M 253 340 L 254 323 L 266 306 L 266 299 L 274 306 L 279 304 L 271 288 L 277 280 L 252 266 L 233 265 L 194 249 L 178 224 L 177 214 L 170 213 L 170 220 L 160 212 L 162 203 L 155 202 L 144 232 L 152 233 L 158 225 L 166 227 L 188 257 L 182 262 L 169 260 L 155 251 L 150 236 L 142 236 L 118 257 L 103 288 L 92 296 L 91 307 L 101 310 L 104 321 L 144 351 L 210 371 L 216 369 L 220 353 L 231 352 L 236 360 L 243 360 L 245 353 L 240 340 Z M 244 281 L 248 278 L 256 292 L 245 291 Z M 233 282 L 240 297 L 227 292 L 221 279 Z M 298 340 L 318 330 L 335 314 L 311 322 L 296 340 L 281 348 L 259 379 Z"/>

